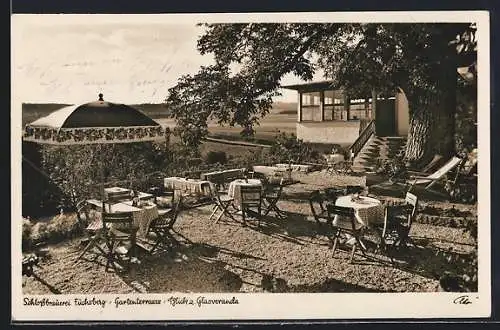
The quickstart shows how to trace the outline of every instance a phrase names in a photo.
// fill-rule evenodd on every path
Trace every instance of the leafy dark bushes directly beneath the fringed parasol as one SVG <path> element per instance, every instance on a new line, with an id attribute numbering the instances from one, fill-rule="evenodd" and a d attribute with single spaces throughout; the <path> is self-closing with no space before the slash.
<path id="1" fill-rule="evenodd" d="M 106 145 L 40 146 L 39 160 L 31 155 L 33 166 L 23 167 L 23 214 L 38 215 L 43 208 L 69 209 L 82 199 L 99 198 L 101 182 L 122 181 L 121 185 L 146 183 L 147 174 L 165 170 L 170 152 L 162 145 L 140 142 Z M 33 171 L 33 169 L 36 171 Z M 26 171 L 25 171 L 26 170 Z M 44 183 L 46 189 L 30 189 Z M 42 196 L 39 191 L 42 191 Z M 35 196 L 30 196 L 35 195 Z"/>

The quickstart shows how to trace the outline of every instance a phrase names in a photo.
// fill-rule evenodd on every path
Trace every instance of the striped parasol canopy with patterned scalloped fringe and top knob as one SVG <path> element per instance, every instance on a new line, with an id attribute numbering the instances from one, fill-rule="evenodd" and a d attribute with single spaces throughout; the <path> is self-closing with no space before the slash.
<path id="1" fill-rule="evenodd" d="M 162 140 L 168 131 L 142 111 L 99 100 L 63 107 L 25 126 L 23 140 L 54 145 Z"/>

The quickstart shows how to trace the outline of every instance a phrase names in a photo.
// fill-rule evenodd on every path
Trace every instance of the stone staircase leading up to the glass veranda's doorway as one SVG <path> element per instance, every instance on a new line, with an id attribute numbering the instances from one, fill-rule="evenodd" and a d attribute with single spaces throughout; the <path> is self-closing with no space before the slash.
<path id="1" fill-rule="evenodd" d="M 379 137 L 372 135 L 353 162 L 355 172 L 374 172 L 377 162 L 391 159 L 406 145 L 406 137 Z"/>

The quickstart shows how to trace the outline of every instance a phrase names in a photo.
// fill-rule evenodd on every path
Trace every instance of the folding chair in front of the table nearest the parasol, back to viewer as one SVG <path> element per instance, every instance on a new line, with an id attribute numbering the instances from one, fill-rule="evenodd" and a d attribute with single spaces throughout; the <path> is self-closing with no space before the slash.
<path id="1" fill-rule="evenodd" d="M 128 254 L 133 256 L 135 250 L 136 233 L 139 229 L 134 225 L 132 212 L 102 213 L 103 239 L 106 243 L 105 253 L 107 271 L 111 265 L 117 271 L 115 262 Z M 130 247 L 125 250 L 118 250 L 119 244 L 129 243 Z M 132 252 L 130 252 L 132 251 Z"/>

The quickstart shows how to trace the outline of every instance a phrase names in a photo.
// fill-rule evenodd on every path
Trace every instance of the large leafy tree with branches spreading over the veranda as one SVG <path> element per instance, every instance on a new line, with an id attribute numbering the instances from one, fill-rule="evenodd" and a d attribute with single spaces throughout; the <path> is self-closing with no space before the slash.
<path id="1" fill-rule="evenodd" d="M 449 152 L 456 68 L 475 61 L 471 24 L 203 24 L 198 51 L 215 64 L 185 75 L 169 90 L 177 134 L 196 146 L 207 120 L 252 134 L 279 95 L 281 79 L 311 80 L 318 70 L 348 93 L 403 90 L 412 121 L 409 144 L 418 159 L 435 141 Z M 365 94 L 366 95 L 366 94 Z M 440 123 L 443 125 L 436 125 Z M 447 132 L 451 129 L 451 133 Z M 419 133 L 429 138 L 413 141 Z M 431 134 L 432 133 L 432 134 Z M 424 134 L 427 135 L 427 134 Z"/>

